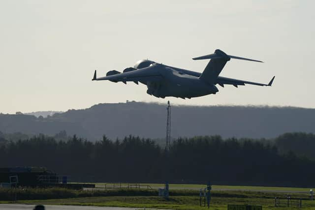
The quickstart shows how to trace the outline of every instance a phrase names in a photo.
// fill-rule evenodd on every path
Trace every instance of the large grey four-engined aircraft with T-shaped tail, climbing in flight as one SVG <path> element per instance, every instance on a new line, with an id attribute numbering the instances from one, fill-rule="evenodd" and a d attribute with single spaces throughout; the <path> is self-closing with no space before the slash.
<path id="1" fill-rule="evenodd" d="M 236 80 L 227 77 L 220 77 L 219 74 L 224 65 L 230 59 L 250 60 L 262 62 L 260 60 L 246 59 L 236 56 L 226 55 L 221 50 L 216 50 L 214 54 L 193 58 L 193 60 L 210 59 L 202 73 L 176 68 L 152 60 L 139 60 L 134 67 L 126 68 L 122 73 L 116 70 L 107 72 L 105 77 L 96 77 L 96 70 L 92 80 L 109 80 L 111 82 L 134 82 L 142 83 L 148 87 L 147 93 L 159 98 L 174 96 L 179 98 L 192 98 L 208 94 L 216 94 L 219 90 L 216 85 L 258 85 L 271 86 L 275 77 L 268 84 L 254 83 L 244 80 Z"/>

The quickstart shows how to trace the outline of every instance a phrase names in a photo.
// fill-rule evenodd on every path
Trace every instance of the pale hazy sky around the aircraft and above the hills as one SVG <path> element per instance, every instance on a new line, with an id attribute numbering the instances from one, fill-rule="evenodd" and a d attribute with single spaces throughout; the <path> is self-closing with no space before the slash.
<path id="1" fill-rule="evenodd" d="M 66 111 L 97 103 L 315 108 L 313 0 L 0 0 L 0 112 Z M 218 86 L 192 99 L 159 99 L 134 83 L 94 81 L 150 59 L 202 72 L 193 57 L 221 49 L 221 76 L 272 87 Z"/>

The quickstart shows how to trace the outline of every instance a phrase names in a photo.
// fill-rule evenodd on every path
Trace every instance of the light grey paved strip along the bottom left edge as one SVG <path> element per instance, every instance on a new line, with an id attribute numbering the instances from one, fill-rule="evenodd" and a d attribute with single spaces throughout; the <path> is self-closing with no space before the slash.
<path id="1" fill-rule="evenodd" d="M 33 210 L 34 207 L 35 205 L 26 204 L 0 204 L 0 210 Z M 45 210 L 137 210 L 137 208 L 45 205 Z"/>

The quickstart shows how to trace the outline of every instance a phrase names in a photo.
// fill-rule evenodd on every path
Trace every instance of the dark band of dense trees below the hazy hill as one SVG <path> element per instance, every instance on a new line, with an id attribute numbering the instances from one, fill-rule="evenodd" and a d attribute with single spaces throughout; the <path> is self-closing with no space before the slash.
<path id="1" fill-rule="evenodd" d="M 314 186 L 315 161 L 280 153 L 266 141 L 220 136 L 178 138 L 169 152 L 129 136 L 95 143 L 33 137 L 0 146 L 0 167 L 42 166 L 72 181 Z"/>

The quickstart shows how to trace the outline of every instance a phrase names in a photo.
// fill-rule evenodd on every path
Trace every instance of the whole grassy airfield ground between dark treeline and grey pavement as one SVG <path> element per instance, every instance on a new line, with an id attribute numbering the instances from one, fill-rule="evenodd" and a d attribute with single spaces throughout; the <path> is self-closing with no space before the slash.
<path id="1" fill-rule="evenodd" d="M 105 183 L 96 183 L 97 192 Z M 145 184 L 144 184 L 145 185 Z M 131 195 L 130 192 L 137 192 L 132 189 L 103 189 L 104 191 L 117 191 L 120 196 L 103 196 L 99 194 L 93 197 L 75 197 L 65 199 L 48 200 L 19 200 L 17 204 L 44 204 L 44 205 L 76 205 L 76 206 L 99 206 L 99 207 L 129 207 L 138 209 L 173 209 L 173 210 L 205 210 L 206 207 L 199 206 L 199 190 L 205 185 L 171 184 L 170 198 L 164 199 L 158 196 L 157 188 L 163 184 L 149 184 L 154 189 L 139 189 L 138 195 Z M 107 184 L 107 186 L 110 186 Z M 286 196 L 289 192 L 292 199 L 302 199 L 303 210 L 314 210 L 315 201 L 309 200 L 309 188 L 287 188 L 287 187 L 249 187 L 249 186 L 213 186 L 210 210 L 227 210 L 227 204 L 249 204 L 262 205 L 263 210 L 296 210 L 297 208 L 286 206 Z M 84 190 L 86 191 L 86 190 Z M 82 193 L 84 193 L 82 191 Z M 141 195 L 147 193 L 148 195 Z M 125 194 L 125 195 L 124 195 Z M 128 196 L 126 196 L 128 194 Z M 280 197 L 280 206 L 274 207 L 275 197 Z M 292 200 L 294 202 L 294 200 Z M 292 203 L 293 203 L 292 202 Z M 0 201 L 9 204 L 11 201 Z"/>

